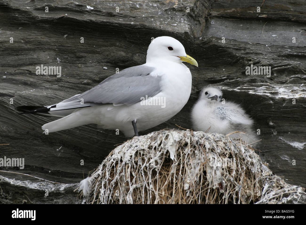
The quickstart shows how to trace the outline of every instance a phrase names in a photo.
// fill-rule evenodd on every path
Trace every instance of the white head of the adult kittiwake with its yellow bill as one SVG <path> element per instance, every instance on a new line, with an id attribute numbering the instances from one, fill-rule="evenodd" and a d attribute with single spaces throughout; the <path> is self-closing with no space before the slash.
<path id="1" fill-rule="evenodd" d="M 198 66 L 196 60 L 186 54 L 184 46 L 177 39 L 168 36 L 157 37 L 152 40 L 147 51 L 147 62 L 156 59 L 177 63 L 188 62 Z"/>

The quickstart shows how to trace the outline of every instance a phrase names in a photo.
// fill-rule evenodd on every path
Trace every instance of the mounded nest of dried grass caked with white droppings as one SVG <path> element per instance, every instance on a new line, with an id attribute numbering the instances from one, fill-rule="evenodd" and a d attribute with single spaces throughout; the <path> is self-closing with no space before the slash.
<path id="1" fill-rule="evenodd" d="M 115 148 L 85 182 L 85 197 L 80 193 L 88 204 L 306 200 L 303 188 L 274 176 L 241 140 L 202 131 L 162 130 L 134 137 Z"/>

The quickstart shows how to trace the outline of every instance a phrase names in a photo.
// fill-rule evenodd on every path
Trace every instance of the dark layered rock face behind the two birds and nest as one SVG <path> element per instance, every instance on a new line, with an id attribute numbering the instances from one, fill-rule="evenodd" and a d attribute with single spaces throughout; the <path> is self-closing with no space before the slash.
<path id="1" fill-rule="evenodd" d="M 0 97 L 0 144 L 9 144 L 0 146 L 0 157 L 25 162 L 22 170 L 2 169 L 79 182 L 127 140 L 123 133 L 87 125 L 45 135 L 40 127 L 53 118 L 18 115 L 16 107 L 87 91 L 117 68 L 145 63 L 152 38 L 172 36 L 199 63 L 188 66 L 192 93 L 180 113 L 140 134 L 192 129 L 191 108 L 200 89 L 212 84 L 254 118 L 262 139 L 256 152 L 269 168 L 305 187 L 305 12 L 303 0 L 2 1 L 0 93 L 15 97 Z M 61 76 L 39 73 L 41 65 L 60 66 Z"/>

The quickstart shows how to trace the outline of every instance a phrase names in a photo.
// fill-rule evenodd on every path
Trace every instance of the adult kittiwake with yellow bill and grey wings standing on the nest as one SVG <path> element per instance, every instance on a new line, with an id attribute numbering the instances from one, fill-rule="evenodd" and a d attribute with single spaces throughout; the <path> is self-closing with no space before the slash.
<path id="1" fill-rule="evenodd" d="M 198 66 L 178 40 L 157 37 L 148 47 L 145 64 L 123 69 L 60 103 L 17 110 L 60 118 L 42 126 L 48 133 L 93 123 L 103 129 L 119 129 L 128 137 L 138 136 L 138 131 L 167 121 L 187 103 L 191 73 L 182 62 Z"/>

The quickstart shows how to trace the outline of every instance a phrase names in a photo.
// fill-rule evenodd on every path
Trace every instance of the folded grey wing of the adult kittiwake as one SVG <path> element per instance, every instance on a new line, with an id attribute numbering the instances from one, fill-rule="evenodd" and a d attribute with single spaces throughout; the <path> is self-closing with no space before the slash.
<path id="1" fill-rule="evenodd" d="M 153 97 L 161 91 L 161 78 L 150 75 L 154 70 L 154 67 L 143 65 L 123 69 L 87 92 L 50 106 L 50 111 L 103 104 L 131 105 L 146 95 Z"/>

